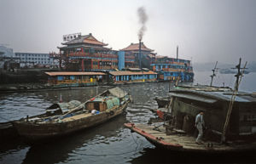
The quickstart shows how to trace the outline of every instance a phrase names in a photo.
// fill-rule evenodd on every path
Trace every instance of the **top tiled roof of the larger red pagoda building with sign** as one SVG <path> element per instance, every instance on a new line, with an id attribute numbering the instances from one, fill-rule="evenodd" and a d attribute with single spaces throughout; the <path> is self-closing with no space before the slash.
<path id="1" fill-rule="evenodd" d="M 96 44 L 96 45 L 100 45 L 100 46 L 108 46 L 108 44 L 96 40 L 96 38 L 93 37 L 91 35 L 91 33 L 86 36 L 77 37 L 77 38 L 73 39 L 72 41 L 64 42 L 62 44 L 69 45 L 69 44 L 78 44 L 78 43 L 88 43 L 88 44 Z"/>

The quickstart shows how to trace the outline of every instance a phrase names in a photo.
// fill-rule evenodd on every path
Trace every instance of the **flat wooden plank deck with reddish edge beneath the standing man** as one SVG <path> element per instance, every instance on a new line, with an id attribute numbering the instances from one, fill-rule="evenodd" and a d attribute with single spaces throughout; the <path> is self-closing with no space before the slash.
<path id="1" fill-rule="evenodd" d="M 150 142 L 156 145 L 164 146 L 167 149 L 188 150 L 188 151 L 212 151 L 223 152 L 232 150 L 251 150 L 256 148 L 256 142 L 250 144 L 219 144 L 217 142 L 207 142 L 196 144 L 195 137 L 186 135 L 181 130 L 173 130 L 171 133 L 166 133 L 166 128 L 163 126 L 155 128 L 148 124 L 131 124 L 126 123 L 125 127 L 131 128 L 143 135 Z M 211 146 L 212 144 L 212 146 Z"/>

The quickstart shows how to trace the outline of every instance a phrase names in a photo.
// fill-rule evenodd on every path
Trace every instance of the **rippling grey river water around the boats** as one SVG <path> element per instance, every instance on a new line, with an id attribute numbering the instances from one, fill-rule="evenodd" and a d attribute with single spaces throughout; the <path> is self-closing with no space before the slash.
<path id="1" fill-rule="evenodd" d="M 208 84 L 211 72 L 195 72 L 195 83 Z M 213 84 L 217 86 L 234 85 L 234 75 L 217 76 Z M 223 82 L 225 84 L 223 84 Z M 256 74 L 245 75 L 241 81 L 241 90 L 256 92 Z M 0 122 L 5 119 L 15 120 L 26 115 L 33 116 L 44 112 L 44 109 L 59 101 L 60 97 L 67 102 L 72 99 L 84 102 L 110 87 L 78 88 L 59 91 L 39 91 L 34 93 L 0 94 Z M 205 159 L 182 153 L 159 150 L 146 139 L 123 126 L 125 122 L 148 122 L 156 109 L 156 96 L 165 96 L 169 83 L 145 83 L 123 85 L 120 88 L 131 93 L 131 103 L 124 115 L 97 127 L 55 139 L 42 144 L 26 144 L 23 141 L 12 141 L 0 145 L 0 163 L 177 163 L 207 162 Z M 249 155 L 225 156 L 225 161 L 214 158 L 216 162 L 256 162 Z M 208 161 L 209 162 L 209 161 Z"/>

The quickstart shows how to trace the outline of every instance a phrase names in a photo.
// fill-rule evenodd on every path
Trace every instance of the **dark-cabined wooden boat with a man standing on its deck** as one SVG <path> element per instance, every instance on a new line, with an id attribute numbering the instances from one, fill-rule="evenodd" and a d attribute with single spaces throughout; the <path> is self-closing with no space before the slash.
<path id="1" fill-rule="evenodd" d="M 151 124 L 125 123 L 156 146 L 168 150 L 230 152 L 256 150 L 256 93 L 236 93 L 224 141 L 230 88 L 195 86 L 170 91 L 172 118 Z M 196 144 L 195 116 L 204 111 L 203 144 Z"/>

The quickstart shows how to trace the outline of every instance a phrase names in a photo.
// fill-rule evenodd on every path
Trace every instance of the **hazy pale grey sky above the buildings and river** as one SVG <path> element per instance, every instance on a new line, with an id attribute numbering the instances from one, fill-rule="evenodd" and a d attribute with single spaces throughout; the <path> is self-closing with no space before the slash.
<path id="1" fill-rule="evenodd" d="M 58 52 L 62 36 L 92 33 L 109 48 L 138 42 L 137 8 L 148 14 L 143 42 L 193 62 L 256 60 L 256 0 L 0 0 L 0 42 L 15 52 Z"/>

